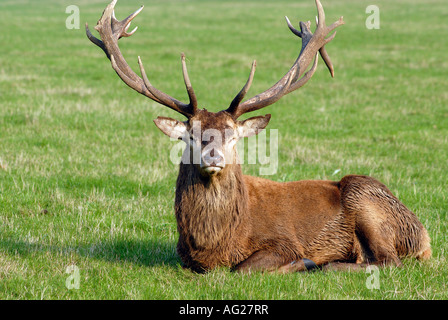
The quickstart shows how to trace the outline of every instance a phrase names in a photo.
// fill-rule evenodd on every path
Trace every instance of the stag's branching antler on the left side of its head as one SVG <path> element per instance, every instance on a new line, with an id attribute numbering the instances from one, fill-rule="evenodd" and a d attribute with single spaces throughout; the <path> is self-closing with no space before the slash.
<path id="1" fill-rule="evenodd" d="M 117 72 L 120 78 L 129 87 L 160 104 L 163 104 L 173 110 L 176 110 L 177 112 L 185 115 L 186 117 L 193 116 L 197 111 L 197 100 L 196 95 L 194 94 L 193 91 L 193 87 L 191 86 L 190 79 L 188 77 L 187 66 L 185 63 L 185 55 L 184 54 L 181 55 L 181 60 L 182 60 L 182 71 L 184 75 L 185 86 L 187 87 L 188 96 L 190 98 L 190 102 L 188 104 L 180 102 L 179 100 L 170 97 L 166 93 L 163 93 L 162 91 L 159 91 L 154 86 L 152 86 L 148 78 L 146 77 L 146 73 L 143 68 L 143 64 L 140 57 L 138 57 L 138 63 L 140 66 L 140 71 L 143 79 L 140 78 L 129 67 L 128 63 L 126 62 L 120 51 L 120 48 L 118 47 L 118 39 L 120 39 L 121 37 L 129 37 L 134 34 L 137 28 L 135 28 L 129 33 L 128 29 L 132 19 L 134 19 L 140 13 L 140 11 L 143 10 L 143 6 L 134 13 L 132 13 L 131 15 L 129 15 L 126 19 L 118 21 L 115 18 L 114 13 L 114 7 L 116 3 L 117 0 L 113 0 L 106 7 L 106 9 L 104 9 L 103 15 L 95 27 L 95 29 L 100 34 L 101 40 L 95 38 L 92 35 L 86 23 L 87 37 L 98 47 L 103 49 L 103 51 L 106 53 L 107 57 L 110 59 L 112 63 L 112 68 Z"/>

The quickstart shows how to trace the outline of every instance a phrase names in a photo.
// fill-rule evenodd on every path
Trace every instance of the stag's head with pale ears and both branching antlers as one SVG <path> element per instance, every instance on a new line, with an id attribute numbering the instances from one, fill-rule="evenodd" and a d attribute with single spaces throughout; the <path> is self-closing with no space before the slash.
<path id="1" fill-rule="evenodd" d="M 158 117 L 154 122 L 166 135 L 186 142 L 186 151 L 193 151 L 189 153 L 191 155 L 189 161 L 192 161 L 205 176 L 215 175 L 221 172 L 227 164 L 236 163 L 236 142 L 243 137 L 257 134 L 264 129 L 269 123 L 270 115 L 252 117 L 244 121 L 240 121 L 238 118 L 247 112 L 267 107 L 278 101 L 282 96 L 302 87 L 316 71 L 318 53 L 321 54 L 331 75 L 334 75 L 333 65 L 324 46 L 333 40 L 336 32 L 328 38 L 326 38 L 327 35 L 344 22 L 341 17 L 327 27 L 322 5 L 319 0 L 316 0 L 318 18 L 314 34 L 310 31 L 311 23 L 309 21 L 307 23 L 300 22 L 299 31 L 286 18 L 290 30 L 296 36 L 302 38 L 302 47 L 291 69 L 275 85 L 242 102 L 254 77 L 256 66 L 254 61 L 249 79 L 227 109 L 219 112 L 199 109 L 196 95 L 188 77 L 184 54 L 181 55 L 182 72 L 190 99 L 189 103 L 180 102 L 156 89 L 149 82 L 140 57 L 138 58 L 138 63 L 141 77 L 132 71 L 118 47 L 118 40 L 121 37 L 129 37 L 136 31 L 137 28 L 129 33 L 127 30 L 132 19 L 140 13 L 143 6 L 126 19 L 118 21 L 114 14 L 116 2 L 117 0 L 113 0 L 106 7 L 103 16 L 95 27 L 100 33 L 101 40 L 91 34 L 86 24 L 88 38 L 103 49 L 112 63 L 112 68 L 129 87 L 187 118 L 186 121 L 179 121 L 172 118 Z M 305 72 L 313 59 L 312 67 Z M 188 159 L 183 158 L 184 160 Z"/>

